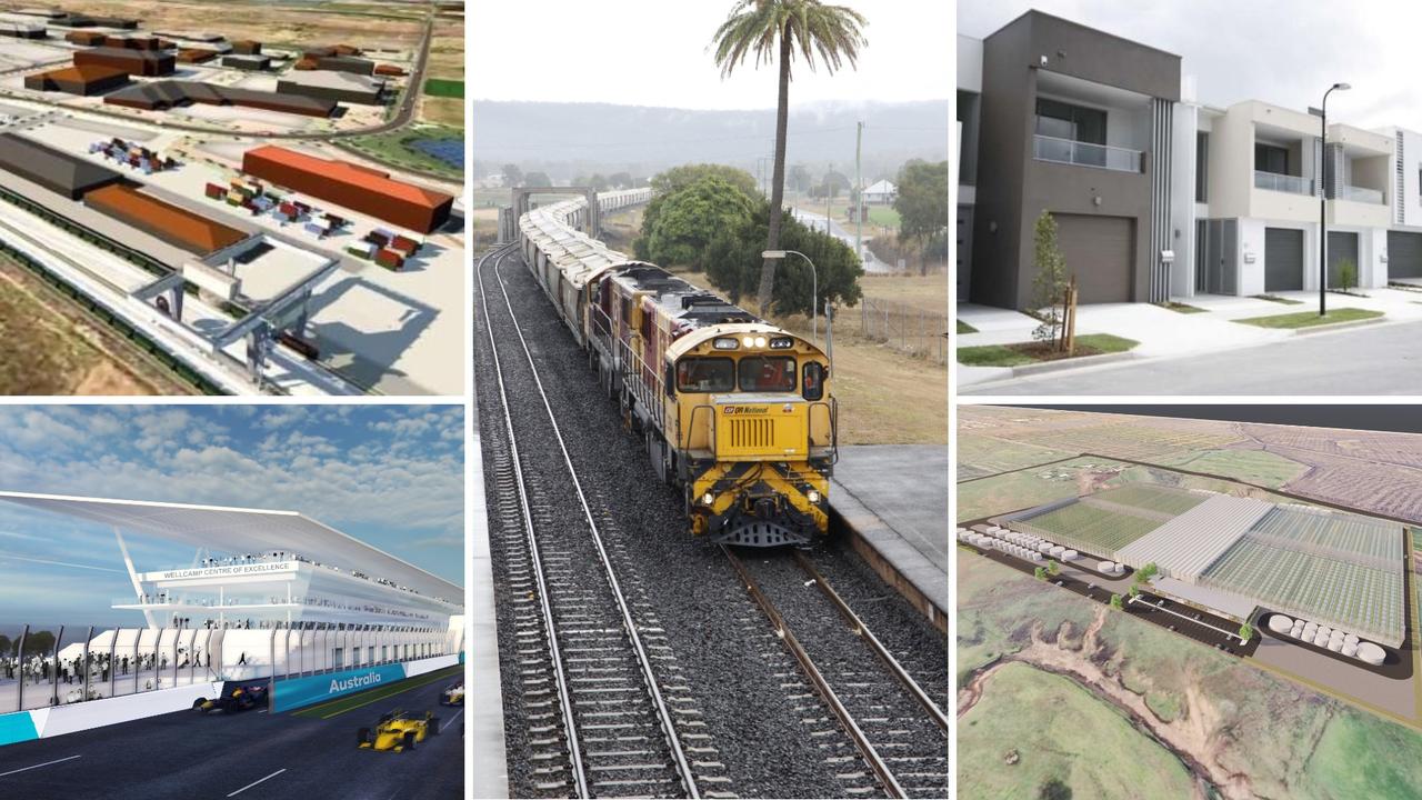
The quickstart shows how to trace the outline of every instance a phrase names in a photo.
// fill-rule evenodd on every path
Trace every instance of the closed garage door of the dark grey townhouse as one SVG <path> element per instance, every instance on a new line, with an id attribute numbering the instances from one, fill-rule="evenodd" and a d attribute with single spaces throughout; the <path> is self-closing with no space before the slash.
<path id="1" fill-rule="evenodd" d="M 1076 276 L 1076 302 L 1130 300 L 1135 219 L 1129 216 L 1057 215 L 1057 243 L 1066 273 Z"/>

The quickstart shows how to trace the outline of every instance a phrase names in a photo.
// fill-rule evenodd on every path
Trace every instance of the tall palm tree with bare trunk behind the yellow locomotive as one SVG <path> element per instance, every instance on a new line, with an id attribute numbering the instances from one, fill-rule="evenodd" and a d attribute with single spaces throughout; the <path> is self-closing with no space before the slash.
<path id="1" fill-rule="evenodd" d="M 863 14 L 845 6 L 828 6 L 820 0 L 735 0 L 731 14 L 717 28 L 712 44 L 721 77 L 727 78 L 755 56 L 755 65 L 779 64 L 781 94 L 775 110 L 775 174 L 771 179 L 771 232 L 765 249 L 779 249 L 781 202 L 785 198 L 785 128 L 789 122 L 791 61 L 796 51 L 811 70 L 816 56 L 833 74 L 845 61 L 850 67 L 866 44 L 860 27 L 867 24 Z M 761 310 L 771 307 L 775 288 L 775 260 L 761 265 L 761 286 L 757 300 Z"/>

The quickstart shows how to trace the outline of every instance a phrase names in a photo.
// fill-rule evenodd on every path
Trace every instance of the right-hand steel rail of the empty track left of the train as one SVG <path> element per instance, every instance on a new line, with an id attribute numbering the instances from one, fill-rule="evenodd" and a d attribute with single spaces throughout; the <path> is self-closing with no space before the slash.
<path id="1" fill-rule="evenodd" d="M 512 248 L 513 245 L 510 245 Z M 512 251 L 510 251 L 512 252 Z M 508 255 L 508 253 L 503 253 Z M 553 436 L 557 438 L 557 447 L 563 454 L 563 464 L 567 465 L 567 474 L 573 480 L 573 491 L 577 494 L 577 501 L 583 507 L 583 517 L 587 521 L 587 527 L 592 531 L 593 545 L 597 548 L 599 559 L 602 561 L 603 571 L 607 577 L 607 584 L 611 588 L 613 599 L 617 602 L 617 609 L 621 614 L 623 626 L 627 631 L 627 639 L 637 655 L 637 665 L 641 669 L 643 680 L 647 686 L 647 693 L 651 696 L 653 707 L 657 712 L 657 717 L 661 723 L 663 736 L 667 740 L 667 749 L 671 752 L 673 766 L 677 770 L 678 777 L 687 796 L 700 800 L 701 793 L 697 789 L 695 774 L 691 770 L 691 763 L 687 760 L 687 754 L 681 747 L 681 740 L 677 739 L 675 725 L 671 719 L 671 712 L 667 706 L 667 700 L 661 696 L 661 689 L 657 686 L 657 676 L 651 669 L 651 659 L 647 656 L 647 649 L 641 642 L 641 635 L 637 632 L 637 623 L 631 616 L 631 609 L 627 605 L 627 598 L 623 595 L 621 584 L 617 581 L 617 574 L 613 569 L 611 558 L 607 555 L 607 549 L 603 547 L 602 532 L 597 530 L 597 522 L 593 520 L 592 507 L 587 504 L 587 497 L 583 494 L 583 484 L 577 478 L 577 468 L 573 465 L 573 458 L 567 453 L 567 444 L 563 441 L 563 433 L 557 424 L 557 414 L 553 413 L 553 406 L 549 404 L 547 393 L 543 390 L 543 379 L 539 377 L 538 362 L 533 359 L 533 353 L 529 350 L 528 340 L 523 337 L 523 329 L 519 325 L 518 313 L 513 310 L 513 302 L 509 299 L 508 286 L 503 282 L 503 275 L 499 272 L 499 263 L 502 256 L 493 262 L 493 276 L 499 280 L 499 290 L 503 293 L 503 305 L 509 310 L 509 319 L 513 322 L 513 332 L 519 337 L 519 344 L 523 347 L 523 354 L 528 357 L 529 367 L 533 373 L 533 381 L 538 386 L 539 399 L 543 401 L 543 410 L 547 411 L 547 419 Z M 485 302 L 485 323 L 488 323 L 488 303 L 483 298 L 483 273 L 479 275 L 479 298 Z M 489 327 L 489 343 L 493 344 L 493 329 Z M 501 384 L 502 390 L 502 384 Z M 505 406 L 505 413 L 508 413 L 508 406 Z"/>

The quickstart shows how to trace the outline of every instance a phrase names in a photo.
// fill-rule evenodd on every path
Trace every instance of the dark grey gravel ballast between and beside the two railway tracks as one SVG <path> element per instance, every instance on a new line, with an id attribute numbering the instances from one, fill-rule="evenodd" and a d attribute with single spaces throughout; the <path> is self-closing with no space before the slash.
<path id="1" fill-rule="evenodd" d="M 616 403 L 599 391 L 586 353 L 555 316 L 533 276 L 516 255 L 506 259 L 501 273 L 619 578 L 640 608 L 638 618 L 654 614 L 665 632 L 668 649 L 657 662 L 658 676 L 677 683 L 671 678 L 680 675 L 690 699 L 687 707 L 698 712 L 687 717 L 701 725 L 678 725 L 678 730 L 685 743 L 698 747 L 688 749 L 688 757 L 697 762 L 702 793 L 742 797 L 846 793 L 846 786 L 835 777 L 845 770 L 826 763 L 826 757 L 853 753 L 848 737 L 838 729 L 826 733 L 823 725 L 802 722 L 828 716 L 828 709 L 812 698 L 818 710 L 805 713 L 805 698 L 793 696 L 803 692 L 796 689 L 802 678 L 793 666 L 786 669 L 792 662 L 759 608 L 745 595 L 720 549 L 688 535 L 681 498 L 657 483 L 640 441 L 621 430 Z M 485 283 L 491 315 L 498 319 L 492 306 L 502 306 L 503 299 L 491 278 Z M 498 390 L 491 384 L 492 359 L 483 326 L 485 320 L 478 319 L 475 367 L 483 411 L 479 426 L 488 443 L 492 428 L 502 426 L 502 416 Z M 525 399 L 538 403 L 536 396 L 509 389 L 516 404 Z M 488 495 L 489 507 L 496 508 L 496 481 L 489 483 Z M 508 665 L 503 690 L 509 781 L 515 796 L 528 796 L 530 776 L 523 760 L 528 712 L 512 653 L 515 639 L 508 611 L 512 598 L 501 575 L 498 547 L 493 558 L 501 659 Z"/>

